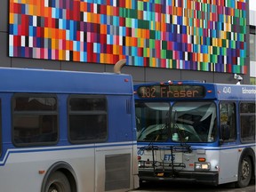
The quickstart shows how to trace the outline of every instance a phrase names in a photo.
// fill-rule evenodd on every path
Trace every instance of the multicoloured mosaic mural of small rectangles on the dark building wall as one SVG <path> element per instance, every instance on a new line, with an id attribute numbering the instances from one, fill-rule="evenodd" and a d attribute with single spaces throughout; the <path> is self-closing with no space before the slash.
<path id="1" fill-rule="evenodd" d="M 9 56 L 246 73 L 246 0 L 10 0 Z"/>

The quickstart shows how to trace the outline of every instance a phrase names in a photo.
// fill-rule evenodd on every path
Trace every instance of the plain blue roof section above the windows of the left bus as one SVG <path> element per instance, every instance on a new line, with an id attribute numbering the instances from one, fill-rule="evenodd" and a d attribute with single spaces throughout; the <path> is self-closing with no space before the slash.
<path id="1" fill-rule="evenodd" d="M 0 68 L 0 92 L 132 94 L 132 76 L 31 68 Z"/>

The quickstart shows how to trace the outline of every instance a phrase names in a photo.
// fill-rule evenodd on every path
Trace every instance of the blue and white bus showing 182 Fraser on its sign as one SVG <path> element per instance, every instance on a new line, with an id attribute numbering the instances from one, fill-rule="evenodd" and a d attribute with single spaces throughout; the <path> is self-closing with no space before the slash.
<path id="1" fill-rule="evenodd" d="M 134 95 L 140 184 L 255 179 L 255 86 L 168 81 Z"/>

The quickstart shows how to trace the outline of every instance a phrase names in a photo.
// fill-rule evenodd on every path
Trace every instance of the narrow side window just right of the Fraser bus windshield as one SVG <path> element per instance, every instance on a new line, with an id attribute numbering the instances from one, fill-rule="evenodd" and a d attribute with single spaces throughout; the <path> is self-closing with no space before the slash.
<path id="1" fill-rule="evenodd" d="M 236 140 L 236 107 L 232 102 L 220 103 L 220 139 Z"/>

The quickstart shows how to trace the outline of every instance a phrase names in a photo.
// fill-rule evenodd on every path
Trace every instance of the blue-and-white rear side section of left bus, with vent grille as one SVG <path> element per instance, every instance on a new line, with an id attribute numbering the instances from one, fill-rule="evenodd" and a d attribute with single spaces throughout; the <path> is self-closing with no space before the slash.
<path id="1" fill-rule="evenodd" d="M 108 147 L 96 148 L 95 191 L 133 188 L 132 95 L 108 96 Z M 96 144 L 97 146 L 103 144 Z"/>

